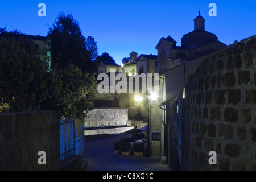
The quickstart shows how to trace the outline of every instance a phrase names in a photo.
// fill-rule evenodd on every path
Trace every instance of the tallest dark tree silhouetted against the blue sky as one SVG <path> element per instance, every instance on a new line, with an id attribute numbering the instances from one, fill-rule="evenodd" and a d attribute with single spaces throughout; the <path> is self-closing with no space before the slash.
<path id="1" fill-rule="evenodd" d="M 97 55 L 97 43 L 94 38 L 86 39 L 73 14 L 57 15 L 53 27 L 49 28 L 48 43 L 51 46 L 52 68 L 64 69 L 73 64 L 82 72 L 91 72 L 92 61 Z M 89 50 L 88 50 L 89 49 Z"/>

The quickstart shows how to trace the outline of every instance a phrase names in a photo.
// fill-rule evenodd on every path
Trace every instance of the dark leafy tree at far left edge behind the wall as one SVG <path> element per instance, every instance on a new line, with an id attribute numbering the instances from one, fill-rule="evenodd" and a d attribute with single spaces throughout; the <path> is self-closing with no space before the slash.
<path id="1" fill-rule="evenodd" d="M 0 28 L 0 104 L 13 111 L 38 110 L 48 95 L 48 68 L 31 39 Z"/>

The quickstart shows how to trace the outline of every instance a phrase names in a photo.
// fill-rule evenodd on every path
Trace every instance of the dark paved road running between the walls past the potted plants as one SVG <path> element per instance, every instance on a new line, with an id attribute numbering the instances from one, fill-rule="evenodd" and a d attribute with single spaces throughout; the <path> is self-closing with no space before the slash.
<path id="1" fill-rule="evenodd" d="M 123 156 L 114 154 L 113 142 L 120 135 L 99 139 L 85 140 L 85 160 L 88 171 L 168 171 L 167 165 L 160 163 L 160 158 L 143 156 Z"/>

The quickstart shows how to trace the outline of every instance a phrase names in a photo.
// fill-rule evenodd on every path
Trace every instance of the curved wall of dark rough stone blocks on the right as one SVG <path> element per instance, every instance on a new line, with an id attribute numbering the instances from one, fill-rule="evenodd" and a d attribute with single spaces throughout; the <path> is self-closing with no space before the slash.
<path id="1" fill-rule="evenodd" d="M 167 106 L 172 169 L 256 170 L 256 36 L 208 57 Z M 217 152 L 217 165 L 208 163 Z"/>

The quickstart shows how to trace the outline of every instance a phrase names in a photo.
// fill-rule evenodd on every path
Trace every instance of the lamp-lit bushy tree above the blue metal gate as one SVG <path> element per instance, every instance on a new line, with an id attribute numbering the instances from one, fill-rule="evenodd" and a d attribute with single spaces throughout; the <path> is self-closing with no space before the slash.
<path id="1" fill-rule="evenodd" d="M 96 89 L 94 75 L 82 73 L 75 65 L 65 69 L 53 69 L 49 73 L 49 96 L 43 109 L 57 110 L 62 117 L 85 118 L 94 109 Z"/>

